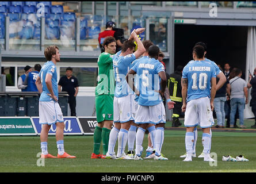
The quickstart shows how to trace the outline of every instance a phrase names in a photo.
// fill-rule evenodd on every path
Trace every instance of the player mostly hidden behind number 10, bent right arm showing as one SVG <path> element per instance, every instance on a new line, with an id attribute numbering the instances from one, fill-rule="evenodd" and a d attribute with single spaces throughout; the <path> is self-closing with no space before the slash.
<path id="1" fill-rule="evenodd" d="M 224 83 L 227 81 L 226 79 L 226 76 L 223 74 L 223 72 L 220 70 L 220 68 L 217 66 L 217 64 L 209 59 L 206 58 L 206 53 L 207 53 L 207 45 L 203 42 L 198 42 L 195 44 L 196 45 L 201 45 L 202 47 L 204 47 L 204 57 L 203 59 L 210 62 L 212 64 L 212 66 L 215 68 L 215 71 L 216 71 L 216 76 L 217 78 L 219 78 L 219 82 L 217 83 L 216 85 L 216 91 L 219 90 L 223 85 Z M 194 62 L 194 60 L 191 60 L 190 62 Z M 189 63 L 190 63 L 189 62 Z M 194 144 L 193 144 L 193 153 L 192 153 L 192 157 L 196 157 L 196 143 L 197 143 L 197 128 L 194 127 Z M 210 130 L 210 134 L 212 135 L 212 131 Z M 180 156 L 181 158 L 185 158 L 186 157 L 186 154 L 184 155 L 181 155 Z M 202 152 L 198 158 L 204 158 L 204 153 Z"/>

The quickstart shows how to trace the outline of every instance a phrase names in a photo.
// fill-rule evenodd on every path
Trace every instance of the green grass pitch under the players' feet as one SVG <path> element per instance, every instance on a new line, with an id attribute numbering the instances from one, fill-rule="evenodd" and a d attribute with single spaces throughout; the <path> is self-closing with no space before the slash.
<path id="1" fill-rule="evenodd" d="M 253 122 L 250 122 L 252 124 Z M 166 124 L 167 127 L 169 124 Z M 197 156 L 202 152 L 202 132 L 198 131 Z M 64 148 L 77 159 L 45 159 L 44 166 L 37 166 L 40 150 L 39 136 L 0 137 L 1 173 L 233 173 L 256 172 L 256 133 L 215 132 L 212 131 L 211 152 L 217 155 L 217 166 L 210 166 L 202 158 L 193 158 L 193 162 L 182 162 L 180 155 L 185 153 L 185 131 L 165 131 L 162 153 L 169 160 L 108 160 L 90 159 L 93 151 L 93 136 L 65 136 Z M 144 150 L 147 148 L 147 135 L 144 137 Z M 102 149 L 102 147 L 101 147 Z M 117 150 L 117 143 L 116 149 Z M 126 151 L 126 150 L 125 150 Z M 55 136 L 49 136 L 48 152 L 57 155 Z M 143 157 L 146 152 L 143 151 Z M 223 162 L 223 155 L 233 157 L 244 155 L 249 162 Z M 40 162 L 43 164 L 42 162 Z"/>

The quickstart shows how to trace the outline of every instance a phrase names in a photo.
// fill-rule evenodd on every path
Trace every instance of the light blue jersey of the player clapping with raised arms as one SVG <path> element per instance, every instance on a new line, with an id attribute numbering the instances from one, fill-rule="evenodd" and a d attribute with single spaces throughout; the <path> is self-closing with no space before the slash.
<path id="1" fill-rule="evenodd" d="M 129 71 L 129 65 L 135 59 L 136 56 L 134 55 L 134 53 L 126 56 L 120 56 L 116 54 L 113 57 L 114 79 L 116 81 L 114 97 L 120 98 L 125 97 L 128 94 L 132 94 L 132 89 L 128 86 L 125 76 Z"/>

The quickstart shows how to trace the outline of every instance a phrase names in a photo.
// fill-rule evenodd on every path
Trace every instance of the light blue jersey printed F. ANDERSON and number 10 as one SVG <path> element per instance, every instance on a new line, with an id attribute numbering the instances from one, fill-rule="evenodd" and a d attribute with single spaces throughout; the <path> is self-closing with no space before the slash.
<path id="1" fill-rule="evenodd" d="M 218 67 L 219 68 L 219 67 Z M 211 79 L 216 78 L 216 68 L 209 61 L 190 61 L 183 69 L 182 78 L 188 79 L 186 101 L 211 97 Z"/>

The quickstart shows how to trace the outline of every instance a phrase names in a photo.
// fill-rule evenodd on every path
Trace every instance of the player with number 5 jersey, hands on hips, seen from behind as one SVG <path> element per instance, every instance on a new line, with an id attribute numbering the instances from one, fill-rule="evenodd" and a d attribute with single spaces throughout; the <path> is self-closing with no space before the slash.
<path id="1" fill-rule="evenodd" d="M 161 155 L 166 122 L 165 106 L 162 101 L 166 89 L 165 67 L 157 60 L 159 48 L 156 45 L 151 45 L 148 48 L 148 55 L 148 58 L 137 62 L 126 76 L 129 86 L 139 95 L 138 109 L 135 115 L 135 122 L 139 124 L 139 128 L 136 133 L 134 159 L 142 160 L 140 147 L 143 143 L 144 133 L 147 127 L 148 131 L 151 132 L 150 129 L 156 124 L 155 137 L 152 135 L 152 139 L 154 139 L 152 143 L 155 147 L 154 160 L 168 160 Z M 137 74 L 139 91 L 131 80 L 135 74 Z"/>

